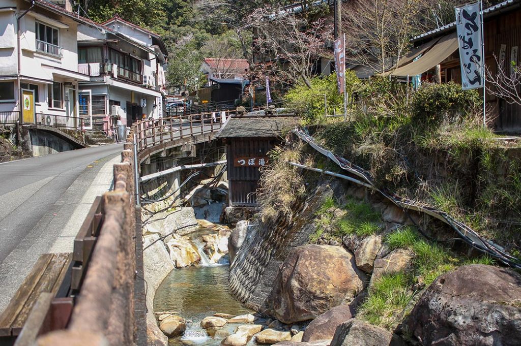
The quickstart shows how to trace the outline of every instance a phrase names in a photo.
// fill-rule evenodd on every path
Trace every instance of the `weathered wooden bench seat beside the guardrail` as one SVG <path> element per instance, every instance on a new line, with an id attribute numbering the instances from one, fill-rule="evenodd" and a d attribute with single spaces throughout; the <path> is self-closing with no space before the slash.
<path id="1" fill-rule="evenodd" d="M 40 256 L 31 272 L 0 315 L 0 338 L 18 336 L 42 293 L 65 297 L 70 285 L 62 285 L 71 274 L 72 253 L 46 253 Z M 70 279 L 68 280 L 70 281 Z M 70 302 L 72 306 L 72 302 Z"/>

